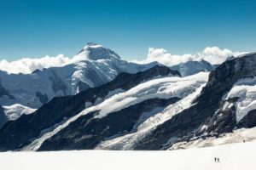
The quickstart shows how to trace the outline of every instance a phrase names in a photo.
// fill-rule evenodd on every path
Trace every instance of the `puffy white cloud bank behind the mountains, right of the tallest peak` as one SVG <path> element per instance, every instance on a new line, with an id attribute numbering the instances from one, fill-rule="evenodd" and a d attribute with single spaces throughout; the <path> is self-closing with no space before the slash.
<path id="1" fill-rule="evenodd" d="M 207 47 L 202 52 L 196 54 L 170 54 L 164 48 L 148 48 L 148 57 L 144 60 L 134 60 L 137 63 L 149 63 L 152 61 L 158 61 L 163 65 L 177 65 L 187 61 L 198 61 L 205 59 L 212 65 L 218 65 L 224 62 L 230 56 L 238 56 L 247 52 L 232 52 L 230 49 L 218 48 L 218 47 Z"/>

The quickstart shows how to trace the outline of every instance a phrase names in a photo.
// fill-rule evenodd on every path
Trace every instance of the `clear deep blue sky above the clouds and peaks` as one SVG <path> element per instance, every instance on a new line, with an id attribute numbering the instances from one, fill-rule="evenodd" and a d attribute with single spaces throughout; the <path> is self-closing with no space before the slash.
<path id="1" fill-rule="evenodd" d="M 255 51 L 256 0 L 0 0 L 0 59 L 73 56 L 86 42 L 143 59 L 148 47 Z"/>

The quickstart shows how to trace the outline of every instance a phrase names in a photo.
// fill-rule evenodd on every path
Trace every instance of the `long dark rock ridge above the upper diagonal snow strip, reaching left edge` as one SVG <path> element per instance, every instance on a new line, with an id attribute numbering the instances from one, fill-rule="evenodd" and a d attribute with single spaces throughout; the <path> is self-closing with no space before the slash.
<path id="1" fill-rule="evenodd" d="M 38 138 L 44 129 L 78 114 L 84 110 L 86 102 L 94 104 L 96 99 L 104 99 L 110 91 L 118 88 L 128 90 L 148 79 L 170 74 L 179 76 L 177 71 L 156 65 L 148 71 L 137 74 L 120 73 L 112 82 L 97 88 L 89 88 L 74 96 L 54 98 L 35 113 L 22 115 L 15 122 L 8 123 L 8 126 L 0 131 L 0 150 L 17 150 L 31 143 L 32 139 Z"/>

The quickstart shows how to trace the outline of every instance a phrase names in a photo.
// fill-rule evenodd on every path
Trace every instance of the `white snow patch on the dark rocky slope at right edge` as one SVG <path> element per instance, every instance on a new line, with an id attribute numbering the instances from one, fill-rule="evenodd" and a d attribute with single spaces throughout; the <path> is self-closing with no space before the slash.
<path id="1" fill-rule="evenodd" d="M 236 102 L 236 122 L 247 115 L 249 111 L 256 110 L 256 77 L 244 78 L 237 81 L 225 100 L 239 97 Z"/>

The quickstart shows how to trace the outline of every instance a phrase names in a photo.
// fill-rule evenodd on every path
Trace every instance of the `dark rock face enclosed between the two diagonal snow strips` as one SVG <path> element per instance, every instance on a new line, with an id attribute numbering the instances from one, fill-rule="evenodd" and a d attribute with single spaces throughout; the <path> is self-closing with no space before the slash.
<path id="1" fill-rule="evenodd" d="M 39 150 L 94 149 L 96 144 L 104 139 L 130 132 L 144 112 L 152 111 L 156 107 L 166 107 L 177 100 L 177 98 L 148 99 L 102 118 L 93 118 L 98 112 L 91 112 L 79 117 L 60 133 L 46 140 Z"/>

